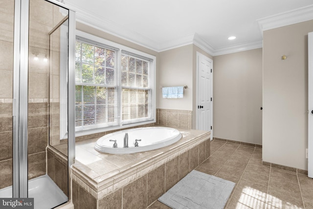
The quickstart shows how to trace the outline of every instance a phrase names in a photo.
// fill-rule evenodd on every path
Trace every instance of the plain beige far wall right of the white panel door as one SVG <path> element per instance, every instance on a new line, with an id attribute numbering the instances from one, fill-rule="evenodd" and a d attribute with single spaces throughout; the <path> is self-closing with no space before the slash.
<path id="1" fill-rule="evenodd" d="M 262 144 L 262 48 L 214 57 L 213 137 Z"/>

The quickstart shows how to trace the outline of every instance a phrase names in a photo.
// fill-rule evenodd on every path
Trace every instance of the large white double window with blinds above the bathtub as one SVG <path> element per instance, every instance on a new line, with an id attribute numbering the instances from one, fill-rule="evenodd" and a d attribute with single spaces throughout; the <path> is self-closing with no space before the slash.
<path id="1" fill-rule="evenodd" d="M 79 33 L 88 39 L 77 37 L 75 45 L 76 131 L 96 133 L 154 122 L 155 57 Z"/>

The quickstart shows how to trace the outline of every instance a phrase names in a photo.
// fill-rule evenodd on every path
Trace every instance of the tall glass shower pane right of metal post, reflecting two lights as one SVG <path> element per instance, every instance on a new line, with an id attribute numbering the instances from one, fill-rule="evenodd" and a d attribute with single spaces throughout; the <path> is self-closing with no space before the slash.
<path id="1" fill-rule="evenodd" d="M 68 15 L 68 9 L 49 1 L 29 0 L 28 197 L 35 209 L 69 199 Z"/>

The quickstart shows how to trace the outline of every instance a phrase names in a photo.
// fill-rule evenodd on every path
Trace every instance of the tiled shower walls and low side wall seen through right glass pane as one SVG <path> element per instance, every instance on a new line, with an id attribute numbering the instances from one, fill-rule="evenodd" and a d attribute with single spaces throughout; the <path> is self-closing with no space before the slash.
<path id="1" fill-rule="evenodd" d="M 59 6 L 45 0 L 29 1 L 28 178 L 46 174 L 46 147 L 49 140 L 48 102 L 50 112 L 53 112 L 50 117 L 50 125 L 53 121 L 50 137 L 52 139 L 52 136 L 56 135 L 58 138 L 56 144 L 60 143 L 59 135 L 55 134 L 59 133 L 60 121 L 60 31 L 56 30 L 51 37 L 49 32 L 63 18 Z M 35 55 L 39 58 L 37 61 L 33 59 Z M 47 62 L 44 62 L 45 57 L 48 59 Z M 49 176 L 67 194 L 67 163 L 65 164 L 62 157 L 56 158 L 56 155 L 49 158 L 51 153 L 47 153 L 47 162 L 51 163 L 47 165 L 51 171 Z"/>

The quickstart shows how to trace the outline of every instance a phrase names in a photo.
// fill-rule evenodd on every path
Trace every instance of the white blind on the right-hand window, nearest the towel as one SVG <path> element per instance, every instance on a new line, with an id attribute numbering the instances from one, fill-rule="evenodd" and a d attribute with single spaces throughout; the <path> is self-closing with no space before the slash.
<path id="1" fill-rule="evenodd" d="M 123 124 L 154 120 L 152 60 L 122 50 L 121 71 Z"/>

